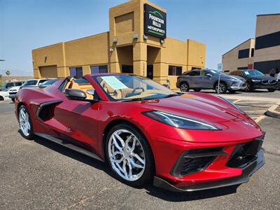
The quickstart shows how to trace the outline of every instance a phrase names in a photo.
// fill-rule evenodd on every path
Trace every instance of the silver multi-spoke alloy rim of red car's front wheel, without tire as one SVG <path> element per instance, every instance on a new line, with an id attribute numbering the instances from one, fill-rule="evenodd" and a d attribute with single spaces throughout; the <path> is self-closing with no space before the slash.
<path id="1" fill-rule="evenodd" d="M 111 134 L 108 144 L 109 161 L 113 170 L 127 181 L 137 181 L 144 174 L 146 159 L 139 139 L 125 129 Z"/>

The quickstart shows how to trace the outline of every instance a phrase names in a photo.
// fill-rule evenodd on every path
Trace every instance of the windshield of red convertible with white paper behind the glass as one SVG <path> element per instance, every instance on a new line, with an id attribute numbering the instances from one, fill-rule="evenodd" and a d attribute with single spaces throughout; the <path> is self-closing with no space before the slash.
<path id="1" fill-rule="evenodd" d="M 155 81 L 136 75 L 92 76 L 106 95 L 113 100 L 134 101 L 142 99 L 160 99 L 179 95 Z"/>

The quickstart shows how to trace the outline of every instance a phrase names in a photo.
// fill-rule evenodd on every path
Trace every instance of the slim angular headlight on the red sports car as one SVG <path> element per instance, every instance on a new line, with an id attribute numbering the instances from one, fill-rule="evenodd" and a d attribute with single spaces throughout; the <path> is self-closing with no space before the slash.
<path id="1" fill-rule="evenodd" d="M 157 120 L 160 123 L 165 123 L 173 127 L 190 130 L 221 130 L 220 128 L 215 127 L 214 125 L 209 125 L 207 123 L 202 123 L 197 120 L 183 118 L 181 116 L 176 116 L 162 111 L 146 111 L 143 114 L 148 118 L 152 118 L 153 120 Z"/>

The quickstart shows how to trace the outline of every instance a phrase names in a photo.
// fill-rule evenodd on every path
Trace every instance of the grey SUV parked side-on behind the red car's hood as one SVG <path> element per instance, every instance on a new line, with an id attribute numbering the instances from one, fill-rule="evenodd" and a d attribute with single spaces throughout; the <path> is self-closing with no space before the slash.
<path id="1" fill-rule="evenodd" d="M 218 83 L 219 73 L 220 84 Z M 225 93 L 227 90 L 229 92 L 244 90 L 246 81 L 239 76 L 228 76 L 213 69 L 194 69 L 179 76 L 176 87 L 179 87 L 182 92 L 188 92 L 190 89 L 195 90 L 195 92 L 212 89 L 219 93 Z"/>

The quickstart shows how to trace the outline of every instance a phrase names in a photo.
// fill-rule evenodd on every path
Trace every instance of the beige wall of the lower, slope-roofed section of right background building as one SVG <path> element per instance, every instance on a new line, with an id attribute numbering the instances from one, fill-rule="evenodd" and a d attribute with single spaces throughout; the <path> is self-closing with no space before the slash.
<path id="1" fill-rule="evenodd" d="M 244 43 L 241 43 L 236 48 L 233 48 L 229 52 L 226 52 L 222 57 L 223 71 L 230 70 L 235 71 L 238 67 L 248 66 L 248 64 L 253 64 L 253 58 L 251 57 L 251 50 L 255 46 L 255 39 L 249 38 Z M 250 49 L 249 57 L 238 58 L 239 50 Z"/>

